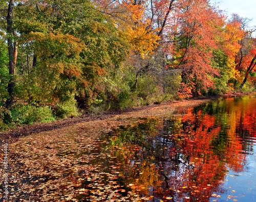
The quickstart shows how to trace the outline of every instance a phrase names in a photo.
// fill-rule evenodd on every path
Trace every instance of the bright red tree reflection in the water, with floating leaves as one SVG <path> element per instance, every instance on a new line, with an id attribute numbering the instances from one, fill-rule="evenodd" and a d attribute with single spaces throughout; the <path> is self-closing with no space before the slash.
<path id="1" fill-rule="evenodd" d="M 177 198 L 206 200 L 212 192 L 218 191 L 219 181 L 225 175 L 225 162 L 212 150 L 212 140 L 220 127 L 215 127 L 214 116 L 201 117 L 191 110 L 181 118 L 181 130 L 176 121 L 169 122 L 168 144 L 162 144 L 156 152 L 163 178 L 176 192 Z M 180 120 L 178 120 L 180 122 Z M 178 131 L 178 132 L 177 132 Z M 172 163 L 165 163 L 161 158 Z"/>

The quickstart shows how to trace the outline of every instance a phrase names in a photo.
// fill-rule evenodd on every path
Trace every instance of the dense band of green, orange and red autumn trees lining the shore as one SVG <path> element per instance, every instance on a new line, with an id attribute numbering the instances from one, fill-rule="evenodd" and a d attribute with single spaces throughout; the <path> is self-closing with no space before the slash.
<path id="1" fill-rule="evenodd" d="M 249 19 L 208 0 L 1 1 L 0 129 L 254 91 Z"/>

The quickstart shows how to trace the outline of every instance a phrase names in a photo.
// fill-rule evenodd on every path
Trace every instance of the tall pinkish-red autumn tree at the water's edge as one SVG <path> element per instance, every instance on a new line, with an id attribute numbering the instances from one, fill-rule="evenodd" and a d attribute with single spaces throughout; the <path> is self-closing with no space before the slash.
<path id="1" fill-rule="evenodd" d="M 212 78 L 219 74 L 211 58 L 218 48 L 223 16 L 207 1 L 183 1 L 176 15 L 165 36 L 169 67 L 182 71 L 181 97 L 200 95 L 202 89 L 214 86 Z"/>

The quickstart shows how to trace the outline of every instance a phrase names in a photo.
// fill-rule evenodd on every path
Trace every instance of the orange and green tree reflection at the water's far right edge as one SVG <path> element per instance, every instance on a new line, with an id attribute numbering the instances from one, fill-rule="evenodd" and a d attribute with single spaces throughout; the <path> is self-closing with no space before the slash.
<path id="1" fill-rule="evenodd" d="M 203 106 L 203 107 L 202 107 Z M 222 128 L 229 128 L 229 133 L 243 139 L 243 150 L 251 150 L 252 144 L 248 139 L 256 137 L 256 98 L 253 96 L 223 98 L 218 102 L 210 102 L 194 110 L 200 110 L 214 115 L 217 124 L 222 124 Z M 225 116 L 226 115 L 226 123 Z M 226 124 L 225 126 L 223 124 Z M 225 133 L 225 131 L 224 131 Z"/>

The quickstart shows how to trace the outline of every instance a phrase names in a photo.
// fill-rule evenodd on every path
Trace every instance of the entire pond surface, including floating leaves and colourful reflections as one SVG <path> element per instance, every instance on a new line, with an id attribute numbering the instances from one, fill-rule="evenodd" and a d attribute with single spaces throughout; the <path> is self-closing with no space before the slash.
<path id="1" fill-rule="evenodd" d="M 256 96 L 166 106 L 8 144 L 7 201 L 255 200 Z"/>

